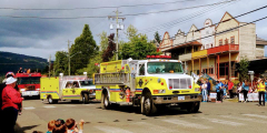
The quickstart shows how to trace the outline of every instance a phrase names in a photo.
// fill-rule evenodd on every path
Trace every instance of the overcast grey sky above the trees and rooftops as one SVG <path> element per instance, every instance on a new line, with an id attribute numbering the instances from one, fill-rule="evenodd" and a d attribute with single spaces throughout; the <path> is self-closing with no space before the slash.
<path id="1" fill-rule="evenodd" d="M 0 0 L 0 8 L 20 8 L 20 9 L 73 9 L 73 8 L 95 8 L 110 6 L 131 6 L 149 4 L 161 2 L 174 2 L 186 0 Z M 145 13 L 161 10 L 180 9 L 187 7 L 210 4 L 226 0 L 188 0 L 170 4 L 144 6 L 144 7 L 125 7 L 119 8 L 121 14 Z M 146 16 L 128 16 L 123 21 L 125 27 L 129 24 L 136 27 L 140 33 L 147 33 L 150 40 L 154 39 L 155 31 L 159 31 L 161 38 L 166 31 L 171 37 L 181 29 L 188 32 L 191 24 L 197 28 L 204 27 L 206 19 L 211 19 L 217 23 L 228 11 L 231 16 L 245 13 L 247 11 L 264 7 L 267 0 L 237 0 L 234 2 L 218 4 L 206 8 L 195 8 L 172 12 L 154 13 Z M 72 18 L 72 17 L 92 17 L 92 16 L 112 16 L 116 9 L 85 9 L 85 10 L 10 10 L 0 9 L 0 51 L 9 51 L 27 55 L 34 55 L 48 59 L 49 54 L 55 55 L 56 51 L 67 50 L 70 40 L 72 43 L 82 32 L 85 24 L 89 24 L 93 38 L 99 42 L 101 31 L 108 33 L 115 32 L 109 30 L 108 18 L 95 19 L 26 19 L 8 18 L 3 16 L 19 17 L 44 17 L 44 18 Z M 266 17 L 267 9 L 257 11 L 251 14 L 238 18 L 240 22 L 250 22 L 256 19 Z M 256 33 L 258 37 L 267 40 L 267 20 L 256 23 Z M 120 31 L 120 40 L 125 40 L 125 31 Z"/>

